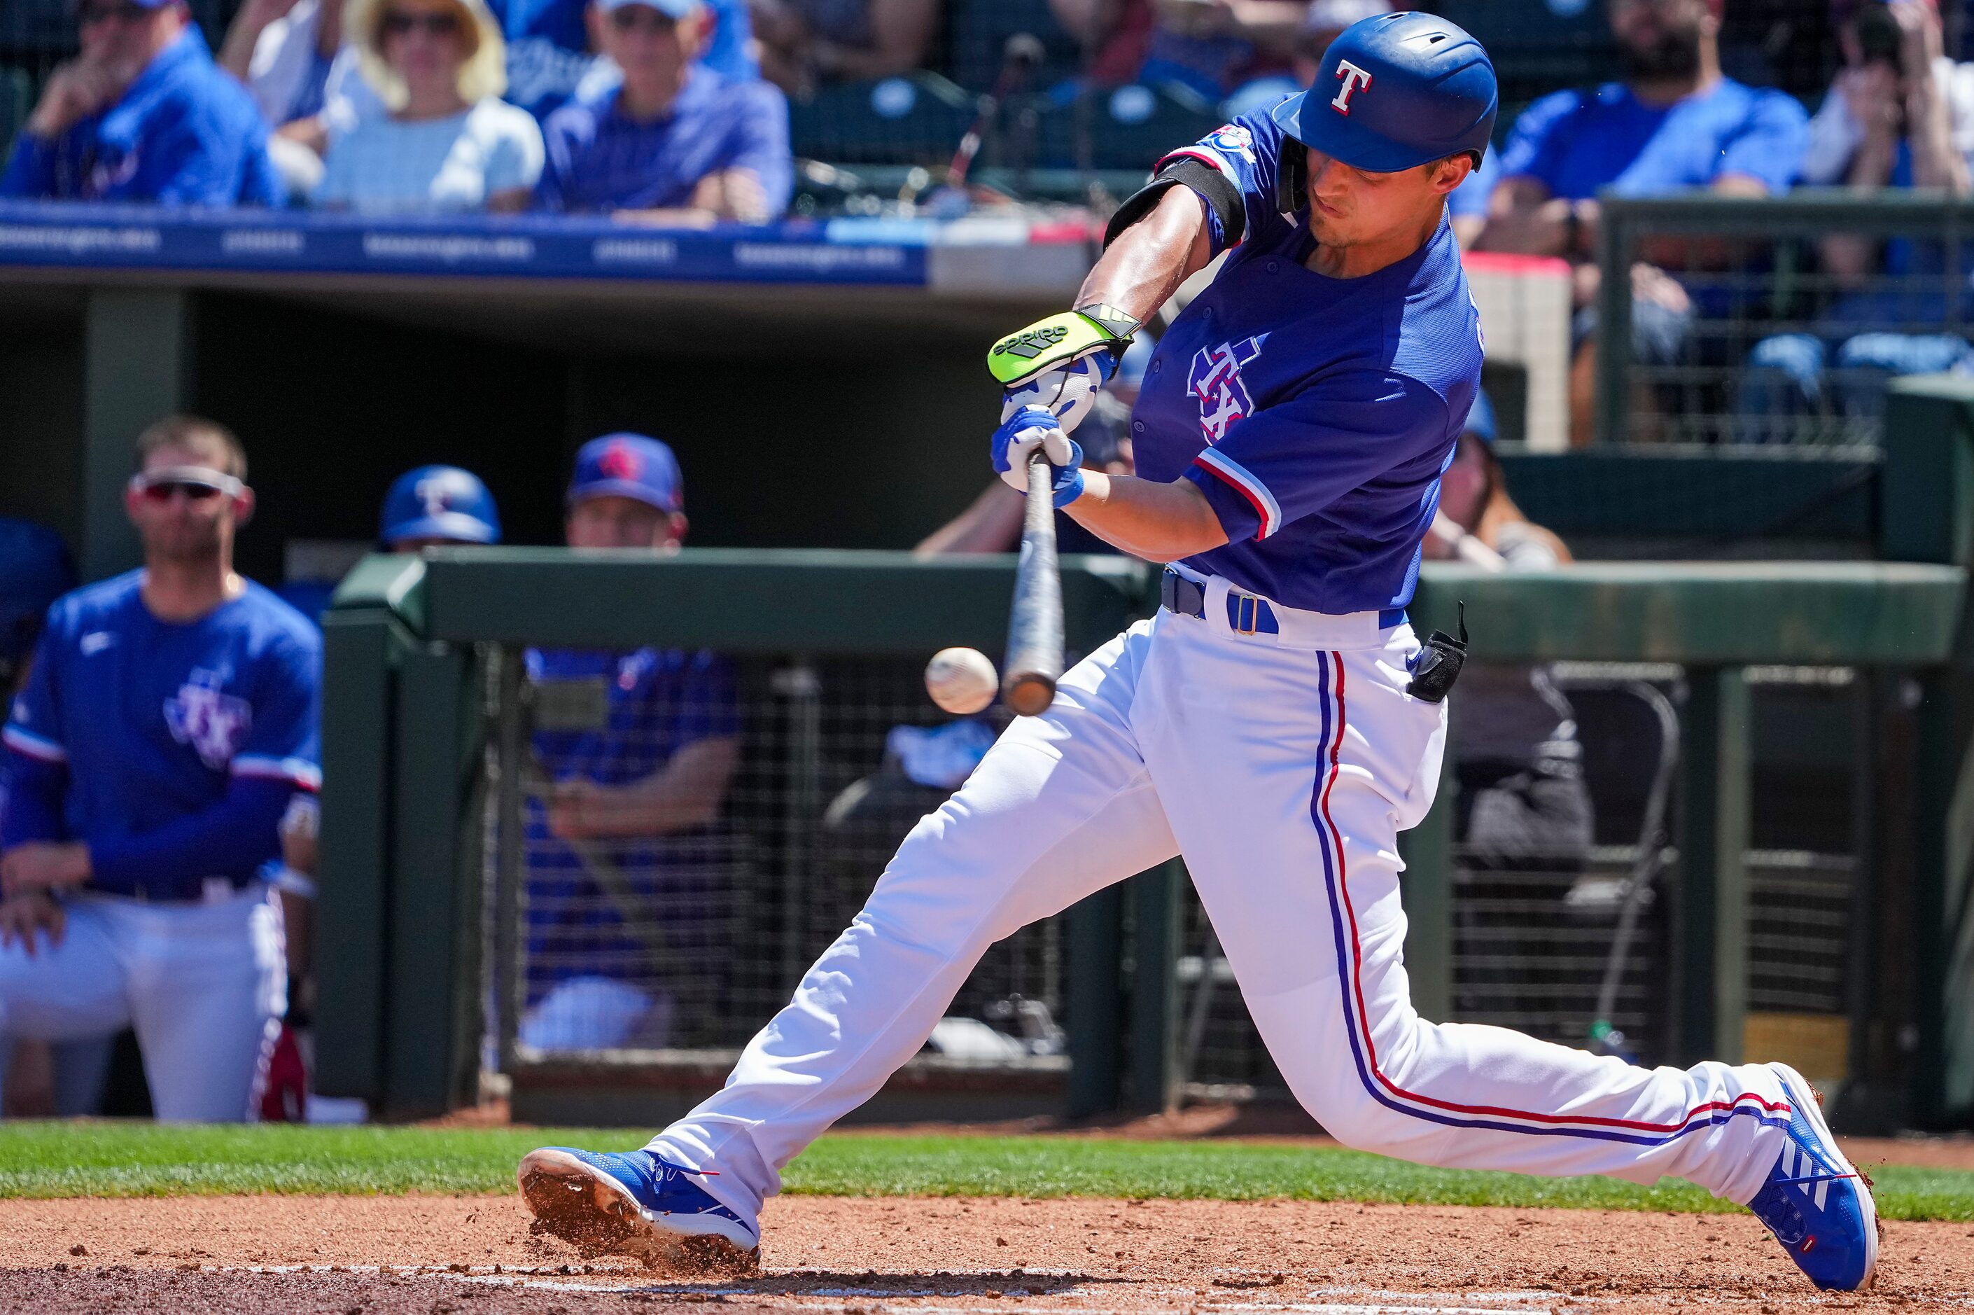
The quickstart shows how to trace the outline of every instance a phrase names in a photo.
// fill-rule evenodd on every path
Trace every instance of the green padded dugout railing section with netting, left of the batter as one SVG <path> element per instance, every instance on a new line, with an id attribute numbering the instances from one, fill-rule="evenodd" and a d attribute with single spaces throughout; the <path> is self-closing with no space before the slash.
<path id="1" fill-rule="evenodd" d="M 1143 575 L 1066 563 L 1072 650 L 1141 610 Z M 1009 559 L 904 553 L 369 559 L 326 618 L 324 1090 L 434 1112 L 472 1100 L 486 1066 L 513 1082 L 517 1118 L 636 1122 L 717 1086 L 944 798 L 886 738 L 951 721 L 926 697 L 924 659 L 999 652 L 1011 580 Z M 553 839 L 555 736 L 596 736 L 592 760 L 649 760 L 665 729 L 661 713 L 604 729 L 600 683 L 529 679 L 531 646 L 730 659 L 740 766 L 719 821 L 665 841 Z M 973 1023 L 878 1110 L 1101 1108 L 1119 898 L 989 950 L 955 1005 Z M 570 975 L 590 985 L 549 1017 L 549 987 Z M 645 1011 L 602 1044 L 624 985 L 665 999 L 669 1025 Z"/>

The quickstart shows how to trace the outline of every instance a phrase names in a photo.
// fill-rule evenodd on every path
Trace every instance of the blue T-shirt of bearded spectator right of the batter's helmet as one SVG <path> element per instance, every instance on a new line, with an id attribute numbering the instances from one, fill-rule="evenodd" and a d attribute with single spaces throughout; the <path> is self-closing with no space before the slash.
<path id="1" fill-rule="evenodd" d="M 1514 120 L 1502 178 L 1534 178 L 1550 195 L 1581 201 L 1611 188 L 1656 195 L 1708 188 L 1723 174 L 1786 192 L 1808 146 L 1794 97 L 1723 77 L 1674 105 L 1646 105 L 1625 83 L 1557 91 Z"/>

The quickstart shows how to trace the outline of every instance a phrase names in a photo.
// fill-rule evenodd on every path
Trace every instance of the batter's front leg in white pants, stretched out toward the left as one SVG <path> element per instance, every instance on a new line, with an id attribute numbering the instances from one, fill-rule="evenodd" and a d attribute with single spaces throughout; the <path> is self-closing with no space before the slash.
<path id="1" fill-rule="evenodd" d="M 989 944 L 1177 851 L 1127 725 L 1143 650 L 1143 628 L 1119 636 L 1064 675 L 1046 715 L 1017 721 L 904 839 L 863 912 L 748 1043 L 724 1090 L 649 1143 L 724 1210 L 669 1228 L 750 1246 L 782 1167 L 918 1052 Z M 529 1191 L 531 1169 L 584 1171 L 543 1155 L 521 1167 L 539 1216 L 543 1197 L 559 1199 Z M 669 1191 L 671 1171 L 638 1165 L 661 1181 L 624 1183 L 628 1193 Z M 569 1236 L 584 1220 L 561 1224 Z M 622 1228 L 606 1228 L 592 1244 L 622 1240 Z"/>

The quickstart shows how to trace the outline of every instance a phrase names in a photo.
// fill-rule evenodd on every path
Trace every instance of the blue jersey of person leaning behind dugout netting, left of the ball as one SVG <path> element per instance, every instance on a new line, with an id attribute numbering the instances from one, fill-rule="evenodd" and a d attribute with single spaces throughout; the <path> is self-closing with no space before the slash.
<path id="1" fill-rule="evenodd" d="M 740 735 L 732 661 L 709 652 L 529 650 L 539 685 L 576 683 L 600 695 L 604 725 L 543 729 L 535 756 L 555 782 L 624 786 L 659 772 L 687 744 Z M 679 964 L 715 979 L 732 952 L 726 912 L 730 867 L 707 835 L 596 839 L 600 853 L 647 912 Z M 527 808 L 527 987 L 539 1001 L 567 977 L 612 977 L 665 989 L 661 966 L 624 930 L 612 890 L 584 855 L 549 831 L 547 812 Z M 673 983 L 675 985 L 675 983 Z"/>

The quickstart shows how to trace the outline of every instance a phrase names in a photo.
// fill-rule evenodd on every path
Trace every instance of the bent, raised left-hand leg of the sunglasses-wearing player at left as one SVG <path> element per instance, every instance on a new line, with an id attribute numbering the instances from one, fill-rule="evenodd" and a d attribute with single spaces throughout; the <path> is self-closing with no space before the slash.
<path id="1" fill-rule="evenodd" d="M 130 1023 L 124 966 L 103 900 L 71 898 L 65 914 L 61 944 L 38 936 L 32 956 L 18 942 L 0 950 L 0 1052 L 16 1039 L 87 1044 Z M 0 1064 L 0 1092 L 4 1084 Z"/>

